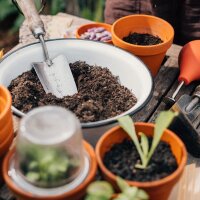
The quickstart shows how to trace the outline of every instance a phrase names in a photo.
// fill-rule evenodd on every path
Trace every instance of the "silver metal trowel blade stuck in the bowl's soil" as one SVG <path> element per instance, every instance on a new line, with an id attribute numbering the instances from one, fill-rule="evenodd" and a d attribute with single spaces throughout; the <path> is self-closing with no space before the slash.
<path id="1" fill-rule="evenodd" d="M 77 93 L 66 57 L 59 55 L 52 60 L 52 63 L 51 66 L 46 62 L 32 63 L 45 92 L 52 93 L 58 98 Z"/>

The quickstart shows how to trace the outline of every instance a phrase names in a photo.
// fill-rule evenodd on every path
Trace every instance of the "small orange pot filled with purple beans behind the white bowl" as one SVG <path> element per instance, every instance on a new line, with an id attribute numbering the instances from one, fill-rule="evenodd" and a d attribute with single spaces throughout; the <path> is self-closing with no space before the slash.
<path id="1" fill-rule="evenodd" d="M 84 24 L 77 29 L 76 38 L 112 44 L 111 25 L 100 22 Z"/>

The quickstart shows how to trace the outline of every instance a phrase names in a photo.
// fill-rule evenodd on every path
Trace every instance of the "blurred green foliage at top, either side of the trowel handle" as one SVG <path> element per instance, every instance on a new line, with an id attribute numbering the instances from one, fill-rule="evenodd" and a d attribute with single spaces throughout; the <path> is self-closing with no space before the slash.
<path id="1" fill-rule="evenodd" d="M 44 14 L 55 15 L 58 12 L 66 12 L 74 14 L 83 18 L 94 21 L 103 21 L 103 10 L 105 0 L 46 0 L 47 4 L 44 9 Z M 35 0 L 39 8 L 40 0 Z M 24 18 L 19 14 L 11 0 L 0 0 L 0 23 L 3 21 L 12 20 L 8 22 L 11 32 L 19 29 Z M 1 28 L 1 27 L 0 27 Z M 2 27 L 4 28 L 4 27 Z"/>

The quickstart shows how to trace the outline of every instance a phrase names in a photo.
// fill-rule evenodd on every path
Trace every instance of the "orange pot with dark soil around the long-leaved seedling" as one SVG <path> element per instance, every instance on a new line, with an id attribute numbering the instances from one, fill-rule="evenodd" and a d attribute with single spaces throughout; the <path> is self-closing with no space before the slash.
<path id="1" fill-rule="evenodd" d="M 142 132 L 147 137 L 153 136 L 154 124 L 137 122 L 135 128 L 137 133 Z M 100 170 L 107 181 L 117 188 L 116 175 L 121 176 L 129 185 L 144 189 L 151 200 L 168 199 L 187 161 L 183 142 L 168 129 L 164 131 L 146 171 L 134 167 L 139 156 L 135 154 L 136 148 L 128 134 L 120 126 L 107 131 L 98 141 L 95 151 Z M 162 173 L 157 172 L 158 168 Z"/>

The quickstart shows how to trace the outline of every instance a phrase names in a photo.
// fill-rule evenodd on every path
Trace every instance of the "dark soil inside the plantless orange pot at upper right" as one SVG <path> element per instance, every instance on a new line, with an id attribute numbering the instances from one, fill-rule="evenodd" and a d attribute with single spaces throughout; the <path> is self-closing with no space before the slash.
<path id="1" fill-rule="evenodd" d="M 136 45 L 156 45 L 163 41 L 158 37 L 148 33 L 130 33 L 128 36 L 124 37 L 123 40 L 130 44 Z"/>

